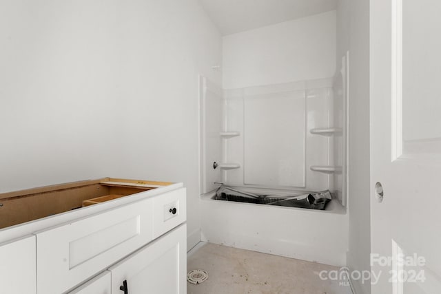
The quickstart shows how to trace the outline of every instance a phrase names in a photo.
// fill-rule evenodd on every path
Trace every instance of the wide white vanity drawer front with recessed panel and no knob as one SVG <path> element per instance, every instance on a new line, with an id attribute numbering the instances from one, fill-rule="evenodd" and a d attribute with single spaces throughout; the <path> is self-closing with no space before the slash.
<path id="1" fill-rule="evenodd" d="M 63 293 L 153 239 L 153 200 L 36 233 L 37 291 Z"/>

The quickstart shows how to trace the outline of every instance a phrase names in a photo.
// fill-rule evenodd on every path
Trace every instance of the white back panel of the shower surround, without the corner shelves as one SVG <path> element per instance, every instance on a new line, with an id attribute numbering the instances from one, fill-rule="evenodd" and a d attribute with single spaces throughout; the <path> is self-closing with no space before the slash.
<path id="1" fill-rule="evenodd" d="M 333 123 L 331 78 L 224 91 L 223 182 L 276 189 L 332 189 L 332 175 L 310 166 L 331 165 L 332 138 L 309 131 Z"/>

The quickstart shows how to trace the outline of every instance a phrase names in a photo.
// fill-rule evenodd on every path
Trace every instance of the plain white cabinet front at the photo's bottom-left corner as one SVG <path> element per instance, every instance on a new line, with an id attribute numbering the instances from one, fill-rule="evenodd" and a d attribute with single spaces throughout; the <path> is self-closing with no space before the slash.
<path id="1" fill-rule="evenodd" d="M 0 293 L 37 293 L 35 236 L 0 244 Z"/>

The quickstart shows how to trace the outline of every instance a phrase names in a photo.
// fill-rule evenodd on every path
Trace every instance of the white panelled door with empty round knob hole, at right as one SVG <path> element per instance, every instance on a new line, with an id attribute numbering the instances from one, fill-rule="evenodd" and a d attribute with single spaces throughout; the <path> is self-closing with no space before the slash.
<path id="1" fill-rule="evenodd" d="M 371 0 L 374 294 L 441 293 L 440 13 L 441 1 Z"/>

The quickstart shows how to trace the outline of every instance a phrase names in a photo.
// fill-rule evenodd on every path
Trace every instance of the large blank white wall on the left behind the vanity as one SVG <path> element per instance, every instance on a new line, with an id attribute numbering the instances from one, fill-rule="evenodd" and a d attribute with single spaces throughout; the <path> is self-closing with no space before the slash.
<path id="1" fill-rule="evenodd" d="M 0 4 L 0 191 L 103 176 L 187 187 L 199 240 L 198 74 L 220 34 L 196 0 Z"/>

